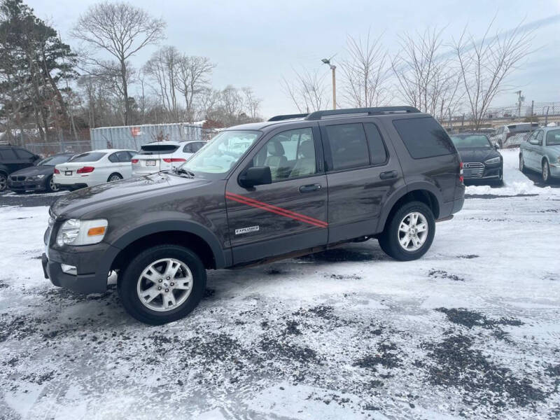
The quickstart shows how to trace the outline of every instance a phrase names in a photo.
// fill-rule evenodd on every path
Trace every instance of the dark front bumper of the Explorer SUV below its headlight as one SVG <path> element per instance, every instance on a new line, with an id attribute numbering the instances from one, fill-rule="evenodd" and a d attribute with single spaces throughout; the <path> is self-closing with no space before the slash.
<path id="1" fill-rule="evenodd" d="M 69 251 L 48 248 L 48 255 L 41 255 L 45 279 L 58 287 L 80 293 L 103 293 L 107 290 L 107 277 L 111 264 L 120 251 L 108 244 L 73 246 Z M 75 249 L 74 249 L 75 248 Z M 66 274 L 61 264 L 73 265 L 77 274 Z"/>

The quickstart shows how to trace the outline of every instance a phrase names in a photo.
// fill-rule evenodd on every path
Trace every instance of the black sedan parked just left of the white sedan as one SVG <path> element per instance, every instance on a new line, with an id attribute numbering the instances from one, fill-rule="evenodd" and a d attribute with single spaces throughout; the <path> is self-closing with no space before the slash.
<path id="1" fill-rule="evenodd" d="M 26 191 L 46 191 L 52 193 L 58 187 L 52 181 L 52 174 L 55 165 L 68 162 L 73 153 L 62 153 L 50 156 L 38 162 L 36 166 L 20 169 L 8 176 L 8 188 L 15 193 L 25 193 Z"/>

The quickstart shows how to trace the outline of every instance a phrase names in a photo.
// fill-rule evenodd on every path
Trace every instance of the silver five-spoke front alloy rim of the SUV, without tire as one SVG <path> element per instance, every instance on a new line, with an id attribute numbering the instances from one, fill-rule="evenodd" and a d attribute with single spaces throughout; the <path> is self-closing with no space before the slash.
<path id="1" fill-rule="evenodd" d="M 188 265 L 175 258 L 152 262 L 140 274 L 137 293 L 140 302 L 153 311 L 172 311 L 181 306 L 193 290 Z"/>

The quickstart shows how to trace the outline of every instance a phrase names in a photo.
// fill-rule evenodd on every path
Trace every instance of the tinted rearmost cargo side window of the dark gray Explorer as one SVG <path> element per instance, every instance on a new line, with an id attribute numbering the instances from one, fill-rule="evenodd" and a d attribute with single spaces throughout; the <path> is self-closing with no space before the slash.
<path id="1" fill-rule="evenodd" d="M 455 153 L 447 132 L 431 117 L 393 120 L 393 125 L 414 159 Z"/>

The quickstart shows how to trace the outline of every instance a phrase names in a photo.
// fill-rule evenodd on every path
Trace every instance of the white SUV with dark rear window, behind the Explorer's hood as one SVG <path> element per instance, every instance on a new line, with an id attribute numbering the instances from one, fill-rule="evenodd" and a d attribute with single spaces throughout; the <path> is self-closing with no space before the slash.
<path id="1" fill-rule="evenodd" d="M 183 165 L 206 141 L 154 141 L 132 158 L 132 176 L 144 176 Z"/>

